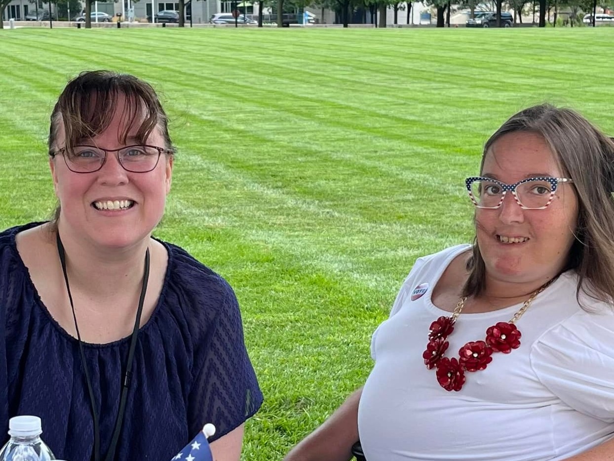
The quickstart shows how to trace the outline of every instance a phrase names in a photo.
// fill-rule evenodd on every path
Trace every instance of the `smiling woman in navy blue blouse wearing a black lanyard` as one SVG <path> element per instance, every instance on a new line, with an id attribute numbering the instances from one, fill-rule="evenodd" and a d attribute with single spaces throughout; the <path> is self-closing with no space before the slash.
<path id="1" fill-rule="evenodd" d="M 69 82 L 51 116 L 55 219 L 0 233 L 0 433 L 42 418 L 57 457 L 169 460 L 204 424 L 238 461 L 262 403 L 227 282 L 152 237 L 174 148 L 152 87 Z"/>

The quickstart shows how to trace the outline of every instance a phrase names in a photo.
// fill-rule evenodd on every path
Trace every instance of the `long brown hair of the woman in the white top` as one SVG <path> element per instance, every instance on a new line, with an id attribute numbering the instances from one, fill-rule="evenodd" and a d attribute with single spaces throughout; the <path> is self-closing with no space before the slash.
<path id="1" fill-rule="evenodd" d="M 578 218 L 575 241 L 563 270 L 577 271 L 577 297 L 583 290 L 600 301 L 611 302 L 614 299 L 614 142 L 578 112 L 540 104 L 511 116 L 489 138 L 480 172 L 492 144 L 513 132 L 542 136 L 563 174 L 573 179 Z M 478 296 L 484 291 L 486 266 L 476 239 L 467 269 L 470 275 L 463 296 Z"/>

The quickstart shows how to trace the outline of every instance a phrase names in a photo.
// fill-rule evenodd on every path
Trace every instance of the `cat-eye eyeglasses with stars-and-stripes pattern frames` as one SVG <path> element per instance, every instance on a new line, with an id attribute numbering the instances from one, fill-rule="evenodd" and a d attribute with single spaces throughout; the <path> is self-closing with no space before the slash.
<path id="1" fill-rule="evenodd" d="M 543 210 L 552 203 L 559 183 L 573 183 L 573 181 L 570 178 L 550 176 L 523 179 L 514 184 L 505 184 L 497 179 L 482 176 L 465 179 L 465 186 L 473 205 L 491 210 L 501 206 L 508 191 L 523 210 Z"/>

